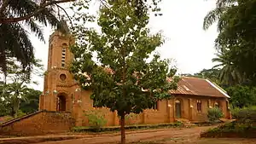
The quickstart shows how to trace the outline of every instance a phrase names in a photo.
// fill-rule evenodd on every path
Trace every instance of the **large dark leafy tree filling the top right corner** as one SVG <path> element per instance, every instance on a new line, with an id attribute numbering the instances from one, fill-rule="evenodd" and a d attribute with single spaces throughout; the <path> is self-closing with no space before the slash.
<path id="1" fill-rule="evenodd" d="M 256 62 L 255 8 L 255 0 L 219 0 L 204 21 L 205 29 L 218 21 L 216 48 L 225 52 L 232 65 L 253 85 L 256 84 L 256 66 L 252 65 Z"/>

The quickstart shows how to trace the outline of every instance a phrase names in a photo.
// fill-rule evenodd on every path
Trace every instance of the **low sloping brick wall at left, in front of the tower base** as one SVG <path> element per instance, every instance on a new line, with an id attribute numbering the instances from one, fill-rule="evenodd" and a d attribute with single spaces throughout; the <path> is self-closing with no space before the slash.
<path id="1" fill-rule="evenodd" d="M 74 119 L 69 112 L 39 111 L 0 125 L 0 135 L 44 135 L 71 130 Z"/>

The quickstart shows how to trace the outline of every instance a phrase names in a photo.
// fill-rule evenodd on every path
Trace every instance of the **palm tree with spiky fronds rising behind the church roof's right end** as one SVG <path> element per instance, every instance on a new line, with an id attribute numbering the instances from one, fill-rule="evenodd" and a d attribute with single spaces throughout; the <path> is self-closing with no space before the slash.
<path id="1" fill-rule="evenodd" d="M 213 69 L 219 69 L 218 79 L 221 84 L 234 85 L 241 84 L 245 77 L 242 72 L 234 65 L 227 52 L 218 52 L 217 57 L 212 59 L 212 62 L 219 64 L 213 66 Z"/>

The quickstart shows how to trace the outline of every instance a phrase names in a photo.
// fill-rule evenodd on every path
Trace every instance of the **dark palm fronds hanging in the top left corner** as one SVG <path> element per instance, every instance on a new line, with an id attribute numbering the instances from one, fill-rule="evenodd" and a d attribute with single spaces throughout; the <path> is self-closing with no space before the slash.
<path id="1" fill-rule="evenodd" d="M 2 1 L 1 1 L 2 2 Z M 19 61 L 20 65 L 28 71 L 35 63 L 34 47 L 28 37 L 29 31 L 41 41 L 44 41 L 41 26 L 52 26 L 66 33 L 63 20 L 58 19 L 53 6 L 41 8 L 41 4 L 34 0 L 3 0 L 0 4 L 0 20 L 23 18 L 33 14 L 27 19 L 18 22 L 0 24 L 0 71 L 6 72 L 9 61 Z M 35 13 L 40 9 L 40 13 Z"/>

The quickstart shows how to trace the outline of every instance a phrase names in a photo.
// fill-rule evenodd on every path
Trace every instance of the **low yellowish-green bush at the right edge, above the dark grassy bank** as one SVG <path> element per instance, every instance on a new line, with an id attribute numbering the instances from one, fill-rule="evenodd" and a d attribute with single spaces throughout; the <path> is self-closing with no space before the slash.
<path id="1" fill-rule="evenodd" d="M 235 108 L 235 109 L 232 109 L 231 112 L 232 112 L 232 117 L 237 119 L 237 121 L 256 122 L 256 107 Z"/>

